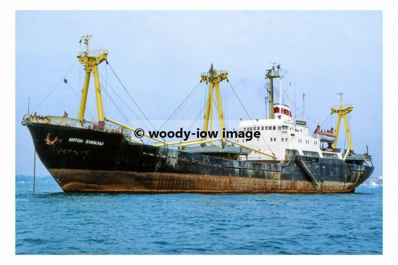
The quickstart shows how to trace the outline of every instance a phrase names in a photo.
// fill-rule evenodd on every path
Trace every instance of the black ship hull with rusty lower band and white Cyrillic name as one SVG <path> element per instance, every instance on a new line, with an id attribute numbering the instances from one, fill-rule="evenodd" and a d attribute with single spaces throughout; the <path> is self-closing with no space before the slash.
<path id="1" fill-rule="evenodd" d="M 353 192 L 374 169 L 302 156 L 285 165 L 232 161 L 134 144 L 121 133 L 26 126 L 38 157 L 64 191 Z"/>

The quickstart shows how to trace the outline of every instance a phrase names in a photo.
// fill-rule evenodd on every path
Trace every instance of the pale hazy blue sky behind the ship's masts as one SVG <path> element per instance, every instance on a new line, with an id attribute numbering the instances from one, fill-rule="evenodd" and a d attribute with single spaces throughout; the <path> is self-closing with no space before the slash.
<path id="1" fill-rule="evenodd" d="M 284 90 L 290 92 L 285 103 L 291 102 L 297 119 L 307 121 L 311 131 L 317 124 L 335 127 L 330 106 L 338 105 L 337 93 L 344 92 L 343 103 L 354 105 L 350 114 L 354 151 L 364 153 L 367 145 L 374 176 L 383 175 L 382 11 L 17 10 L 15 17 L 16 175 L 33 174 L 33 143 L 20 123 L 28 105 L 30 113 L 60 116 L 67 111 L 70 117 L 77 116 L 83 75 L 76 56 L 85 49 L 79 41 L 87 34 L 93 35 L 91 49 L 108 50 L 117 78 L 156 125 L 198 85 L 200 73 L 210 64 L 228 70 L 228 80 L 251 118 L 266 117 L 264 75 L 273 63 L 280 64 L 287 71 Z M 144 119 L 111 69 L 100 71 L 102 87 L 118 87 L 123 101 Z M 224 92 L 232 94 L 227 89 Z M 86 118 L 95 120 L 91 98 L 92 94 Z M 231 117 L 235 115 L 231 122 L 236 122 L 230 127 L 235 128 L 239 118 L 248 117 L 236 98 L 230 100 Z M 106 96 L 104 106 L 105 116 L 120 120 Z M 139 124 L 124 109 L 130 124 Z M 185 108 L 189 114 L 183 118 L 195 119 L 197 110 Z M 342 147 L 343 127 L 340 130 Z M 47 175 L 37 163 L 36 176 Z"/>

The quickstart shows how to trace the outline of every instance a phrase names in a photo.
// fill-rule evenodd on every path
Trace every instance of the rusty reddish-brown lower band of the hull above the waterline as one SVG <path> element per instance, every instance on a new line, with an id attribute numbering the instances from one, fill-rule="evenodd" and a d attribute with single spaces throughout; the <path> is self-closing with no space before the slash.
<path id="1" fill-rule="evenodd" d="M 355 183 L 273 180 L 254 177 L 49 169 L 64 191 L 192 193 L 353 192 Z"/>

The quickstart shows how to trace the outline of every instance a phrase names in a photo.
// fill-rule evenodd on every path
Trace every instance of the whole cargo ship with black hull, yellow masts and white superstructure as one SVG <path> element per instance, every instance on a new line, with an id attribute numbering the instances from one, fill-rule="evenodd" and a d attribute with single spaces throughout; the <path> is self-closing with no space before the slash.
<path id="1" fill-rule="evenodd" d="M 293 119 L 289 105 L 274 103 L 273 81 L 281 78 L 280 66 L 275 65 L 265 74 L 268 118 L 242 120 L 230 137 L 222 134 L 219 89 L 221 82 L 228 82 L 228 72 L 212 65 L 200 75 L 208 86 L 202 132 L 212 130 L 215 105 L 219 137 L 200 134 L 197 139 L 167 142 L 104 117 L 98 66 L 108 63 L 108 51 L 90 50 L 90 37 L 82 37 L 86 49 L 78 55 L 85 70 L 78 117 L 22 117 L 40 161 L 65 192 L 341 193 L 354 192 L 374 170 L 371 156 L 355 154 L 352 147 L 346 115 L 353 106 L 341 102 L 331 108 L 338 116 L 334 132 L 317 128 L 311 133 L 305 121 Z M 92 75 L 98 122 L 85 119 Z M 348 140 L 344 151 L 336 148 L 341 118 Z M 157 143 L 144 144 L 140 137 Z"/>

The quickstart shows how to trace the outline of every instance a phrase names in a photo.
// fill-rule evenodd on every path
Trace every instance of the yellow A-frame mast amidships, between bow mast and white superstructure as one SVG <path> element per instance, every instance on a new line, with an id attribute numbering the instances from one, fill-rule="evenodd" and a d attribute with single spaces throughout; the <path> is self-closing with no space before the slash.
<path id="1" fill-rule="evenodd" d="M 224 129 L 224 115 L 222 113 L 222 105 L 221 105 L 221 96 L 220 96 L 220 88 L 219 88 L 219 83 L 228 77 L 228 72 L 227 71 L 216 71 L 213 70 L 213 64 L 210 66 L 210 70 L 205 73 L 201 73 L 200 75 L 201 81 L 206 82 L 206 84 L 209 84 L 208 88 L 208 94 L 207 94 L 207 101 L 206 101 L 206 107 L 204 111 L 204 117 L 203 117 L 203 131 L 207 131 L 208 124 L 210 123 L 210 130 L 212 130 L 212 97 L 213 97 L 213 92 L 215 92 L 215 98 L 216 98 L 216 106 L 217 106 L 217 114 L 218 114 L 218 125 L 219 125 L 219 130 L 220 130 L 220 135 L 222 137 L 222 132 Z M 209 119 L 210 118 L 210 119 Z M 206 138 L 202 138 L 202 141 L 205 141 Z M 225 138 L 221 138 L 221 145 L 226 143 Z M 201 145 L 203 146 L 205 143 L 202 143 Z"/>

